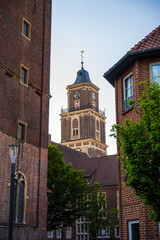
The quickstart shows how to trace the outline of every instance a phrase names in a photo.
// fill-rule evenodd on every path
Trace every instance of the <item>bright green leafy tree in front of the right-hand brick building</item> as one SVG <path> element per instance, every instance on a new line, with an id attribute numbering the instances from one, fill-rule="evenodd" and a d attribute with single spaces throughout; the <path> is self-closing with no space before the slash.
<path id="1" fill-rule="evenodd" d="M 143 84 L 139 108 L 134 107 L 140 120 L 127 119 L 111 131 L 120 146 L 126 185 L 149 206 L 151 218 L 160 221 L 160 86 Z"/>

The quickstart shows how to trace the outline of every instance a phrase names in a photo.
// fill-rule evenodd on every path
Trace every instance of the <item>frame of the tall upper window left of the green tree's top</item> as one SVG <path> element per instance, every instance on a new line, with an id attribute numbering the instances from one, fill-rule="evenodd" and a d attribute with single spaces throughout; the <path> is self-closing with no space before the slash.
<path id="1" fill-rule="evenodd" d="M 129 90 L 131 89 L 131 86 L 132 86 L 132 95 L 130 95 L 128 98 L 126 98 L 125 82 L 126 82 L 126 80 L 129 79 L 130 77 L 132 77 L 132 85 L 129 86 Z M 127 104 L 127 100 L 133 100 L 133 74 L 132 74 L 132 72 L 130 72 L 129 74 L 127 74 L 127 75 L 123 78 L 123 112 L 127 111 L 130 107 L 132 107 L 132 105 L 128 105 L 128 104 Z"/>

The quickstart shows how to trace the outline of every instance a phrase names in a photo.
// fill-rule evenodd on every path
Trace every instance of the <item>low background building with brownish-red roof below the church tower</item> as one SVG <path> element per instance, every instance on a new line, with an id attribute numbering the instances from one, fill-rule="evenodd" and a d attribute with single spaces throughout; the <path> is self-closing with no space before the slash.
<path id="1" fill-rule="evenodd" d="M 52 142 L 55 145 L 55 143 Z M 74 169 L 84 170 L 84 178 L 88 179 L 89 185 L 99 182 L 102 192 L 106 195 L 108 209 L 117 208 L 118 193 L 118 164 L 116 155 L 90 158 L 85 153 L 58 144 L 58 149 L 63 153 L 66 164 L 71 163 Z M 63 230 L 64 239 L 89 240 L 89 235 L 85 231 L 85 221 L 77 219 L 73 227 Z M 61 239 L 61 231 L 48 232 L 48 239 Z M 112 232 L 105 232 L 104 239 L 119 239 L 119 226 L 115 226 Z M 102 240 L 101 235 L 97 239 Z"/>

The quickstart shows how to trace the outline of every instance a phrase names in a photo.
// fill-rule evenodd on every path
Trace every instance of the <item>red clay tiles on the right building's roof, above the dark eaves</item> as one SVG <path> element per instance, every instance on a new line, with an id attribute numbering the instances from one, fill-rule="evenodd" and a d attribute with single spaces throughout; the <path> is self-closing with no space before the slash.
<path id="1" fill-rule="evenodd" d="M 160 26 L 138 42 L 129 52 L 160 47 Z"/>

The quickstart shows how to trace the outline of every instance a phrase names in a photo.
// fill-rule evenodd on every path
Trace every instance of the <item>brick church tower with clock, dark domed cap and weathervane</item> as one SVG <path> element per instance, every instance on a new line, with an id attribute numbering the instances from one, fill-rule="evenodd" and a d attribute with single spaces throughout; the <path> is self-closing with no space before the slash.
<path id="1" fill-rule="evenodd" d="M 83 53 L 83 52 L 82 52 Z M 61 144 L 89 154 L 107 155 L 105 112 L 99 110 L 99 88 L 83 67 L 72 85 L 67 86 L 68 108 L 61 109 Z"/>

